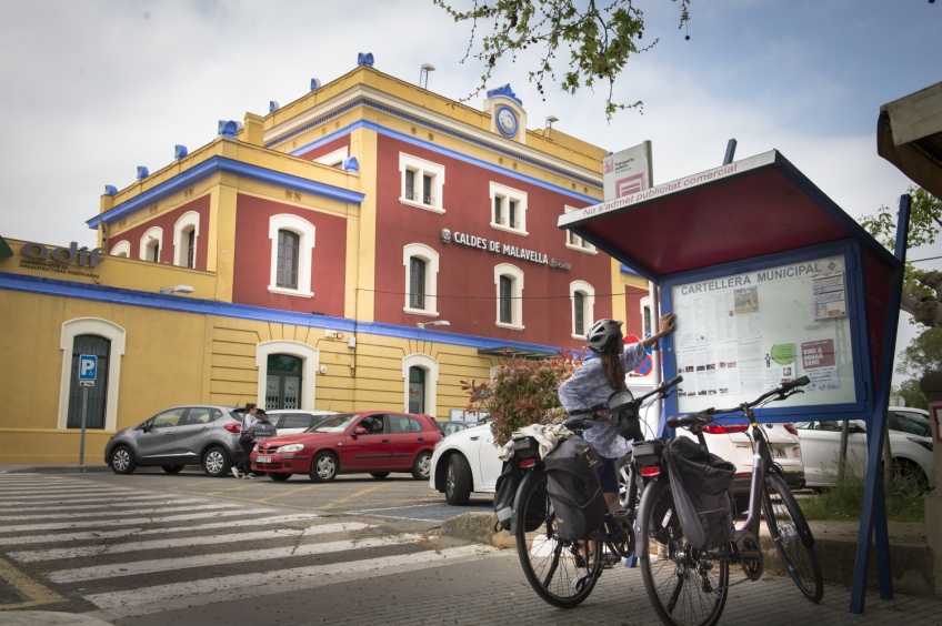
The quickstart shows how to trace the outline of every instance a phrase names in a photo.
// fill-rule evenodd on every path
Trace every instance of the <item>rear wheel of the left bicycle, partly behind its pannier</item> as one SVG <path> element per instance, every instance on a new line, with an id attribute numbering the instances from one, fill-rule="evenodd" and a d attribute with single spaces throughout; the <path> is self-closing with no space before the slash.
<path id="1" fill-rule="evenodd" d="M 555 514 L 547 495 L 545 472 L 533 471 L 524 476 L 514 508 L 519 519 L 517 554 L 530 586 L 553 606 L 578 606 L 589 597 L 601 575 L 598 556 L 602 543 L 559 538 Z M 593 558 L 587 558 L 587 551 Z"/>

